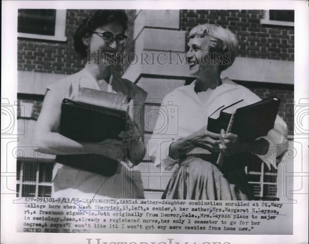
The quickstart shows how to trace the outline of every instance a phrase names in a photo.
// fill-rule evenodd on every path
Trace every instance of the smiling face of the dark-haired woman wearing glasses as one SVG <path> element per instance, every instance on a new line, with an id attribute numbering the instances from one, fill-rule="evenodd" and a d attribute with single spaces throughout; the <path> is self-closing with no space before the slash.
<path id="1" fill-rule="evenodd" d="M 124 33 L 124 28 L 121 24 L 117 22 L 112 22 L 108 24 L 104 24 L 94 30 L 95 32 L 98 33 L 104 33 L 104 32 L 111 32 L 115 36 L 119 34 Z M 97 63 L 97 52 L 96 50 L 100 50 L 101 55 L 100 55 L 100 64 L 108 64 L 109 58 L 108 58 L 108 53 L 118 53 L 123 50 L 123 44 L 117 43 L 115 40 L 114 41 L 104 41 L 104 39 L 96 33 L 93 33 L 90 37 L 83 38 L 83 42 L 85 45 L 88 46 L 88 49 L 91 50 L 91 63 Z M 105 54 L 105 55 L 103 55 Z"/>

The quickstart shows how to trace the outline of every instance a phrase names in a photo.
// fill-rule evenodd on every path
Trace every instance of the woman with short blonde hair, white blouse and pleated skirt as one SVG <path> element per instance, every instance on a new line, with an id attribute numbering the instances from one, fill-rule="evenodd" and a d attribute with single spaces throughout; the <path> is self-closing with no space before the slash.
<path id="1" fill-rule="evenodd" d="M 271 162 L 264 156 L 267 153 L 265 149 L 286 144 L 282 133 L 286 125 L 278 116 L 274 129 L 254 142 L 242 142 L 237 135 L 226 133 L 224 151 L 220 146 L 220 135 L 207 130 L 208 117 L 219 107 L 231 105 L 240 99 L 244 99 L 248 105 L 261 100 L 249 89 L 227 78 L 220 78 L 221 72 L 234 62 L 237 47 L 235 35 L 218 25 L 198 25 L 189 33 L 189 72 L 196 80 L 175 89 L 163 99 L 164 104 L 173 101 L 173 105 L 178 106 L 179 133 L 172 141 L 150 140 L 150 158 L 155 165 L 161 164 L 168 169 L 176 163 L 176 171 L 163 198 L 250 200 L 253 194 L 244 171 L 248 162 L 243 162 L 243 158 L 235 160 L 235 155 L 255 154 L 270 165 Z M 162 123 L 160 121 L 157 124 Z M 280 148 L 278 150 L 277 147 L 277 156 L 282 153 Z M 190 158 L 187 153 L 191 149 L 199 153 L 198 158 Z M 222 168 L 218 167 L 214 155 L 220 152 L 234 155 L 234 160 L 229 162 L 227 157 Z"/>

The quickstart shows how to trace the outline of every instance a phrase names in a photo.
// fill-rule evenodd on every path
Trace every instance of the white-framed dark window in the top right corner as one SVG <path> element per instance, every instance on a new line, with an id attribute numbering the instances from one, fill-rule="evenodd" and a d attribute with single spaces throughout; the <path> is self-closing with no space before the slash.
<path id="1" fill-rule="evenodd" d="M 294 26 L 294 10 L 265 10 L 261 24 Z"/>

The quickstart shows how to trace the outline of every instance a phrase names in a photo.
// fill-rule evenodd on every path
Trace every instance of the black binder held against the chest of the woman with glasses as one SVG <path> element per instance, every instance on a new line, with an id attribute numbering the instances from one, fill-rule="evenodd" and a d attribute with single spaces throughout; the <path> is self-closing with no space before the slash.
<path id="1" fill-rule="evenodd" d="M 64 99 L 61 105 L 60 134 L 78 142 L 120 139 L 127 130 L 128 112 Z"/>

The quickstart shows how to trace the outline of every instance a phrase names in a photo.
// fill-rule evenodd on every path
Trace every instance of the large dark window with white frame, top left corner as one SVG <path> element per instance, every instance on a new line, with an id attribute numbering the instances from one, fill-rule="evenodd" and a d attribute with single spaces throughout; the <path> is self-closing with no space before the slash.
<path id="1" fill-rule="evenodd" d="M 66 10 L 19 9 L 18 37 L 66 41 Z"/>

